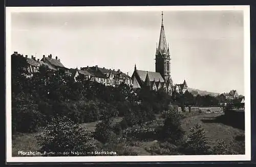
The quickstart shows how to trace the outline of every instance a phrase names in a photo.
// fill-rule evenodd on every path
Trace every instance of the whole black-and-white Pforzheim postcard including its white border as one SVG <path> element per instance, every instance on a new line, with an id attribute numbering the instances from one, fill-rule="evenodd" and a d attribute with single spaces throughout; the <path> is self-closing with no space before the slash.
<path id="1" fill-rule="evenodd" d="M 7 7 L 7 162 L 250 160 L 249 12 Z"/>

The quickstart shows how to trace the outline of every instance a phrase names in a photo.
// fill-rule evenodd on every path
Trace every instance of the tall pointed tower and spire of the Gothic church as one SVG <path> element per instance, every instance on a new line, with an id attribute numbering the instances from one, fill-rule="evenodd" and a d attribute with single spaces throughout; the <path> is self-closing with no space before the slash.
<path id="1" fill-rule="evenodd" d="M 160 31 L 160 38 L 158 47 L 156 49 L 156 72 L 160 73 L 165 82 L 172 83 L 170 76 L 170 54 L 169 45 L 166 43 L 164 27 L 163 27 L 163 12 L 162 12 L 162 24 Z"/>

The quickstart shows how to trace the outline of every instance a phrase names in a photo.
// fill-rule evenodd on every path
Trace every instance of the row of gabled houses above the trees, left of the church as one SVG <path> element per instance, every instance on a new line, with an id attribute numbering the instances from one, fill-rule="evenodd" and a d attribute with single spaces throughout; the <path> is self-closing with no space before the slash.
<path id="1" fill-rule="evenodd" d="M 14 56 L 23 56 L 14 52 Z M 120 85 L 122 82 L 131 85 L 131 77 L 128 74 L 122 73 L 120 69 L 107 69 L 105 67 L 101 68 L 98 65 L 92 67 L 81 67 L 78 68 L 67 68 L 61 62 L 60 59 L 56 56 L 55 58 L 52 55 L 45 56 L 43 55 L 41 59 L 36 59 L 36 57 L 25 56 L 27 61 L 27 71 L 30 74 L 29 76 L 33 75 L 39 70 L 41 65 L 47 66 L 50 70 L 59 70 L 62 69 L 65 71 L 67 75 L 70 75 L 77 81 L 79 78 L 83 80 L 90 80 L 99 82 L 106 86 L 117 86 Z"/>

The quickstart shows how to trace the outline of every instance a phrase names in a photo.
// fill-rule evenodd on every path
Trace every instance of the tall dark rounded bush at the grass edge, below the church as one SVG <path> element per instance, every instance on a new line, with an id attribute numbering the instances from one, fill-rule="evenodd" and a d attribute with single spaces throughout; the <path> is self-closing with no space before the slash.
<path id="1" fill-rule="evenodd" d="M 175 110 L 170 110 L 166 114 L 162 133 L 163 137 L 173 144 L 177 144 L 178 142 L 180 142 L 185 133 L 181 127 L 182 117 L 182 114 L 178 113 Z"/>

